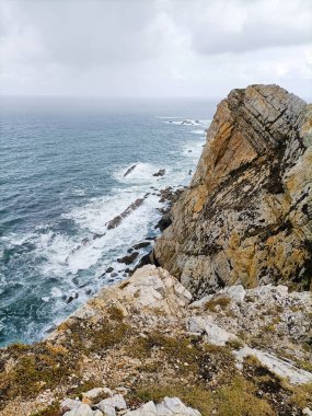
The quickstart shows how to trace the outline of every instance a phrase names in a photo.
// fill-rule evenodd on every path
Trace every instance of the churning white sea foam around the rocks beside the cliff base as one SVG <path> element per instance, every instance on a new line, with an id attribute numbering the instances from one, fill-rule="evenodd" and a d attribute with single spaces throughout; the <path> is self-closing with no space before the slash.
<path id="1" fill-rule="evenodd" d="M 159 116 L 159 118 L 162 117 Z M 183 122 L 176 117 L 173 119 L 178 125 Z M 187 185 L 192 177 L 189 172 L 194 171 L 205 143 L 204 128 L 209 124 L 209 120 L 199 122 L 200 124 L 196 126 L 200 127 L 200 130 L 194 130 L 194 125 L 189 124 L 193 128 L 193 130 L 189 129 L 189 141 L 185 143 L 184 140 L 181 148 L 174 151 L 178 163 L 158 165 L 134 161 L 128 165 L 117 166 L 113 176 L 119 185 L 112 189 L 111 195 L 92 198 L 89 203 L 66 212 L 62 217 L 74 223 L 74 233 L 68 233 L 66 230 L 54 232 L 51 224 L 43 224 L 33 233 L 10 236 L 10 244 L 22 245 L 31 242 L 35 245 L 34 256 L 38 258 L 37 273 L 47 281 L 51 279 L 49 286 L 45 287 L 45 291 L 41 293 L 44 307 L 38 313 L 46 313 L 46 305 L 50 305 L 49 308 L 56 312 L 57 316 L 54 324 L 58 324 L 70 311 L 90 297 L 90 289 L 94 293 L 103 285 L 124 278 L 127 266 L 118 263 L 117 258 L 124 256 L 127 249 L 134 244 L 157 233 L 154 224 L 160 218 L 157 208 L 160 208 L 162 204 L 159 201 L 159 195 L 152 194 L 158 194 L 158 189 L 165 186 Z M 198 132 L 193 135 L 192 132 L 195 131 Z M 125 172 L 134 164 L 136 167 L 125 177 Z M 165 169 L 165 175 L 153 176 L 160 169 Z M 147 193 L 150 195 L 140 207 L 124 218 L 116 229 L 107 230 L 106 223 L 109 220 L 120 215 L 135 199 L 143 197 Z M 74 188 L 71 194 L 83 195 L 83 189 Z M 103 235 L 96 235 L 93 239 L 95 234 Z M 142 251 L 141 254 L 143 253 Z M 97 278 L 108 266 L 114 267 L 117 276 Z M 73 281 L 73 278 L 78 279 L 79 284 L 77 280 Z M 84 286 L 86 284 L 88 286 Z M 70 294 L 76 298 L 76 293 L 79 296 L 78 299 L 67 304 L 63 297 Z M 50 326 L 51 324 L 44 330 Z M 35 326 L 31 325 L 28 333 L 33 334 L 34 331 L 36 331 Z"/>

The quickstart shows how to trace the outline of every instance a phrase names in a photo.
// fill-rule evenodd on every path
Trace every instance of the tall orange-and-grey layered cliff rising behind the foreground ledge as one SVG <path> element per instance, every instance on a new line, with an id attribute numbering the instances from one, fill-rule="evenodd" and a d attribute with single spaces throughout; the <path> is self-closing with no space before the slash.
<path id="1" fill-rule="evenodd" d="M 311 186 L 312 106 L 277 85 L 233 90 L 155 258 L 198 296 L 238 282 L 311 289 Z"/>

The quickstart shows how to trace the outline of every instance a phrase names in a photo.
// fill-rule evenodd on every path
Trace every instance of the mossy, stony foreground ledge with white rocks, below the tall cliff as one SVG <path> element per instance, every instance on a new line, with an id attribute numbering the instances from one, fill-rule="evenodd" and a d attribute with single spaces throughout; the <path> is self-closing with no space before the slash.
<path id="1" fill-rule="evenodd" d="M 194 300 L 148 265 L 48 339 L 1 350 L 0 414 L 308 415 L 311 314 L 311 292 L 232 286 Z"/>

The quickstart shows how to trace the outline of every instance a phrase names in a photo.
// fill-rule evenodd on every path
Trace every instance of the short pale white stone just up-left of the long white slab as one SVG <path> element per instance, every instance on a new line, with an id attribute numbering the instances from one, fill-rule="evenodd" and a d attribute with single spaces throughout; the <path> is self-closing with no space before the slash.
<path id="1" fill-rule="evenodd" d="M 188 320 L 188 328 L 192 333 L 206 333 L 209 344 L 224 346 L 229 340 L 238 339 L 234 334 L 221 328 L 211 321 L 210 316 L 192 316 Z"/>

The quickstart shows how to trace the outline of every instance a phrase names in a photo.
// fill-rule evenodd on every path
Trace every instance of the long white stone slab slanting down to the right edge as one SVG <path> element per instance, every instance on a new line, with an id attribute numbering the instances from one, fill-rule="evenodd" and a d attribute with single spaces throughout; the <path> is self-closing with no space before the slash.
<path id="1" fill-rule="evenodd" d="M 305 384 L 312 382 L 312 373 L 294 367 L 292 363 L 284 361 L 271 354 L 264 353 L 256 348 L 244 347 L 234 351 L 239 363 L 247 356 L 256 357 L 261 363 L 278 377 L 286 378 L 291 384 Z"/>

